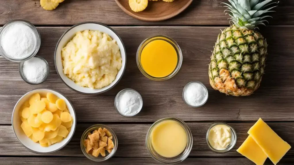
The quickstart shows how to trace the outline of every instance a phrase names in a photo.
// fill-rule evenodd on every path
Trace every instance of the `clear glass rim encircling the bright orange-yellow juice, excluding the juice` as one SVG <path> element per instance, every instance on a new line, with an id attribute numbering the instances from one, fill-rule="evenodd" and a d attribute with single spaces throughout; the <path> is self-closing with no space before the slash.
<path id="1" fill-rule="evenodd" d="M 153 39 L 153 38 L 159 38 L 159 37 L 162 37 L 162 38 L 166 38 L 168 40 L 170 40 L 172 43 L 173 46 L 175 46 L 175 50 L 177 52 L 177 57 L 178 57 L 178 63 L 177 63 L 177 66 L 176 68 L 173 70 L 172 73 L 170 73 L 169 75 L 165 76 L 165 77 L 161 77 L 161 78 L 156 78 L 156 77 L 153 77 L 151 75 L 149 75 L 147 72 L 145 72 L 145 70 L 143 69 L 143 66 L 141 65 L 141 62 L 138 58 L 141 57 L 141 48 L 142 46 L 149 40 Z M 147 43 L 148 44 L 148 43 Z M 180 48 L 180 46 L 178 45 L 178 43 L 173 40 L 171 37 L 168 37 L 168 36 L 165 36 L 165 35 L 155 35 L 155 36 L 151 36 L 151 37 L 148 37 L 146 38 L 141 44 L 140 46 L 138 47 L 137 49 L 137 53 L 136 53 L 136 62 L 137 62 L 137 66 L 140 70 L 140 72 L 147 78 L 149 78 L 150 80 L 154 80 L 154 81 L 163 81 L 163 80 L 168 80 L 170 78 L 172 78 L 174 75 L 176 75 L 178 73 L 178 71 L 181 69 L 181 66 L 182 66 L 182 63 L 183 63 L 183 54 L 182 54 L 182 50 Z"/>

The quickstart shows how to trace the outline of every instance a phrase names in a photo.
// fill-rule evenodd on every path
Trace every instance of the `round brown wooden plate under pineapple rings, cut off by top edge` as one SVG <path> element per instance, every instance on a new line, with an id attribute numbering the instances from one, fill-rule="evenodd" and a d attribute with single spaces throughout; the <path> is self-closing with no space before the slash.
<path id="1" fill-rule="evenodd" d="M 118 6 L 128 15 L 142 21 L 163 21 L 172 18 L 184 11 L 193 0 L 174 0 L 173 2 L 148 1 L 145 10 L 134 12 L 131 10 L 128 0 L 115 0 Z"/>

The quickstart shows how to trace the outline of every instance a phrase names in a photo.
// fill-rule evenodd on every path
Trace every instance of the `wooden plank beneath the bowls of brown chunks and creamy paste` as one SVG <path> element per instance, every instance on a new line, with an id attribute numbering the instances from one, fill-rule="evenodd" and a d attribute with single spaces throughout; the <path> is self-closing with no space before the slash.
<path id="1" fill-rule="evenodd" d="M 95 123 L 98 124 L 98 123 Z M 187 123 L 193 136 L 193 147 L 189 156 L 221 157 L 241 156 L 236 149 L 248 137 L 247 131 L 254 122 L 229 123 L 237 133 L 237 143 L 233 149 L 227 153 L 217 154 L 211 151 L 206 144 L 206 132 L 212 123 L 193 122 Z M 84 156 L 80 147 L 80 138 L 83 132 L 92 124 L 77 124 L 74 137 L 63 149 L 51 154 L 35 154 L 23 147 L 15 138 L 11 126 L 0 126 L 0 155 L 1 156 Z M 147 152 L 145 139 L 151 124 L 107 124 L 113 129 L 118 138 L 118 149 L 115 157 L 150 157 Z M 269 122 L 268 125 L 286 142 L 294 146 L 293 122 Z M 285 157 L 294 157 L 292 147 Z"/>

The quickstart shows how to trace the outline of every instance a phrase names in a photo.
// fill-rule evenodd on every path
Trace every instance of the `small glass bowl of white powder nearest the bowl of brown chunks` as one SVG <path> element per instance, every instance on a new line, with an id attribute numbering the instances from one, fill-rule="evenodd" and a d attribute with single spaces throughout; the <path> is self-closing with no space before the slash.
<path id="1" fill-rule="evenodd" d="M 143 100 L 139 92 L 127 88 L 118 92 L 114 100 L 114 106 L 122 116 L 132 117 L 141 111 Z"/>

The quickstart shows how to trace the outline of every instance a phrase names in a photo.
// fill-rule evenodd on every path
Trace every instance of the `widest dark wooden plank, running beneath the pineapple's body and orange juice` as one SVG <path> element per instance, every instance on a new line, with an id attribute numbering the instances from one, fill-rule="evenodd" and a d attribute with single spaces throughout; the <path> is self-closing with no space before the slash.
<path id="1" fill-rule="evenodd" d="M 161 117 L 178 117 L 185 121 L 294 121 L 294 26 L 262 28 L 267 38 L 268 57 L 265 75 L 255 94 L 246 97 L 226 96 L 213 90 L 208 79 L 208 63 L 214 42 L 224 27 L 135 26 L 113 27 L 126 47 L 127 66 L 120 82 L 102 95 L 88 96 L 69 89 L 59 78 L 54 66 L 54 50 L 59 37 L 68 27 L 39 27 L 41 48 L 37 55 L 45 58 L 50 74 L 44 83 L 29 85 L 18 72 L 18 64 L 0 57 L 0 124 L 10 124 L 17 100 L 36 88 L 51 88 L 69 98 L 78 122 L 155 121 Z M 132 34 L 132 35 L 130 35 Z M 156 82 L 144 77 L 136 64 L 140 43 L 153 35 L 173 38 L 181 47 L 183 64 L 167 81 Z M 191 108 L 182 99 L 183 87 L 200 81 L 209 91 L 208 102 Z M 124 88 L 133 88 L 143 97 L 143 109 L 135 117 L 123 117 L 114 107 L 115 95 Z M 89 117 L 91 116 L 91 117 Z"/>

